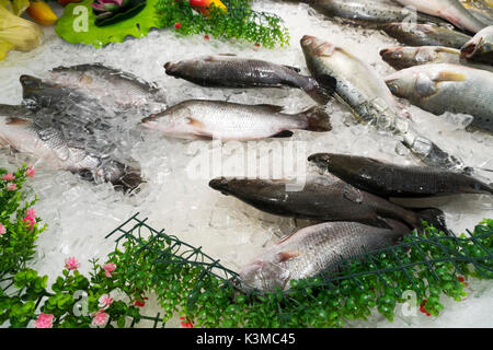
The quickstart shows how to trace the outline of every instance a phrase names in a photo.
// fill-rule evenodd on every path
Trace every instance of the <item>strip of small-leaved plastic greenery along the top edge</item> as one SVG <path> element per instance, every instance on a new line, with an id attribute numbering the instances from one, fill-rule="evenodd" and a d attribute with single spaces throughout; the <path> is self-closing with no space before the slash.
<path id="1" fill-rule="evenodd" d="M 246 40 L 267 48 L 289 43 L 288 31 L 277 15 L 252 10 L 249 0 L 222 2 L 227 11 L 211 4 L 206 16 L 195 11 L 187 1 L 159 0 L 160 27 L 174 25 L 182 35 L 202 33 L 220 39 Z"/>

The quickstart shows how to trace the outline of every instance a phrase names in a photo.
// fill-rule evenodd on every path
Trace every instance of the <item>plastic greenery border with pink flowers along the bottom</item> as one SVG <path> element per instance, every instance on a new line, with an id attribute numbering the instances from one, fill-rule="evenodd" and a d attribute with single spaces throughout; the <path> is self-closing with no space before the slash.
<path id="1" fill-rule="evenodd" d="M 141 319 L 156 326 L 159 315 L 140 314 L 153 294 L 162 322 L 181 316 L 184 327 L 343 327 L 375 312 L 392 320 L 403 302 L 438 316 L 445 295 L 466 296 L 466 279 L 493 278 L 493 220 L 459 237 L 426 226 L 398 246 L 341 261 L 336 275 L 261 292 L 238 289 L 236 272 L 134 215 L 108 235 L 122 234 L 105 264 L 90 261 L 83 276 L 80 262 L 68 259 L 48 288 L 48 277 L 27 266 L 45 230 L 23 188 L 32 175 L 25 166 L 0 170 L 0 326 L 129 327 Z"/>

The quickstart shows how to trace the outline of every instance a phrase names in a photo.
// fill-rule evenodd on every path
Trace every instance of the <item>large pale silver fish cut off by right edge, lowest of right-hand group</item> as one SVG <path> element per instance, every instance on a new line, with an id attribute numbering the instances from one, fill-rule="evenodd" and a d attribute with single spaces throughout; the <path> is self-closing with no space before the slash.
<path id="1" fill-rule="evenodd" d="M 493 73 L 457 65 L 431 63 L 400 70 L 386 78 L 395 96 L 442 115 L 474 117 L 471 126 L 493 131 Z"/>

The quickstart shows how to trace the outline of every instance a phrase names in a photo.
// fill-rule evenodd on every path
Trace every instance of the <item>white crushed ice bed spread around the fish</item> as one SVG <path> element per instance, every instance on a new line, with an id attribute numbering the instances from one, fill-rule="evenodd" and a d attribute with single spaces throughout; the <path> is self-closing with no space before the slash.
<path id="1" fill-rule="evenodd" d="M 21 103 L 21 74 L 45 78 L 47 71 L 57 66 L 98 61 L 145 80 L 156 81 L 165 89 L 169 104 L 188 98 L 211 98 L 249 104 L 278 104 L 288 112 L 297 112 L 313 104 L 301 91 L 199 88 L 165 75 L 162 67 L 167 61 L 206 54 L 233 52 L 242 57 L 297 66 L 308 73 L 299 47 L 299 39 L 305 34 L 344 46 L 382 77 L 393 71 L 380 59 L 378 52 L 381 48 L 397 45 L 397 42 L 383 34 L 335 24 L 321 15 L 311 15 L 311 11 L 303 4 L 259 1 L 255 5 L 262 5 L 262 10 L 277 13 L 286 21 L 291 36 L 289 47 L 268 50 L 250 44 L 206 40 L 200 35 L 183 38 L 177 37 L 173 31 L 159 31 L 141 39 L 129 39 L 123 44 L 93 49 L 69 45 L 58 38 L 53 28 L 45 28 L 46 42 L 43 46 L 31 52 L 11 52 L 0 62 L 0 103 Z M 462 159 L 469 166 L 493 168 L 493 137 L 480 131 L 465 131 L 462 122 L 468 119 L 467 116 L 434 116 L 409 106 L 406 102 L 403 104 L 411 112 L 415 128 L 438 145 Z M 332 116 L 331 132 L 295 132 L 293 140 L 308 141 L 307 155 L 326 151 L 344 152 L 400 164 L 417 164 L 409 151 L 400 147 L 392 137 L 354 125 L 346 109 L 335 102 L 331 102 L 328 109 Z M 117 119 L 114 120 L 117 122 Z M 36 210 L 49 224 L 49 230 L 39 238 L 36 268 L 41 273 L 54 278 L 60 272 L 64 260 L 70 256 L 83 261 L 81 270 L 88 271 L 88 259 L 104 257 L 114 247 L 113 241 L 104 240 L 104 236 L 136 212 L 141 212 L 142 218 L 148 217 L 149 223 L 156 229 L 165 229 L 168 233 L 192 245 L 203 246 L 207 254 L 220 258 L 232 269 L 250 261 L 264 246 L 274 244 L 277 236 L 296 230 L 294 220 L 260 212 L 210 189 L 208 180 L 219 174 L 210 173 L 196 178 L 194 175 L 197 174 L 187 172 L 187 165 L 197 154 L 197 150 L 191 145 L 197 143 L 164 139 L 153 132 L 144 133 L 140 130 L 126 130 L 122 135 L 114 135 L 114 138 L 113 141 L 121 144 L 119 152 L 138 161 L 148 179 L 141 191 L 133 198 L 115 192 L 108 184 L 93 185 L 68 172 L 49 170 L 43 162 L 25 154 L 13 154 L 7 149 L 0 151 L 0 166 L 13 168 L 15 164 L 27 160 L 37 168 L 36 177 L 30 184 L 39 197 Z M 210 147 L 210 142 L 203 144 Z M 488 176 L 489 173 L 481 172 L 480 175 Z M 491 177 L 483 179 L 492 180 Z M 455 232 L 472 229 L 480 220 L 492 217 L 492 197 L 455 196 L 433 201 L 446 212 L 447 223 Z M 423 206 L 422 202 L 414 205 Z M 492 283 L 470 281 L 470 284 L 471 294 L 466 301 L 457 303 L 444 299 L 446 310 L 436 319 L 417 313 L 411 320 L 397 317 L 394 324 L 376 316 L 368 323 L 357 322 L 352 325 L 492 327 Z M 146 314 L 156 314 L 156 310 L 147 307 Z"/>

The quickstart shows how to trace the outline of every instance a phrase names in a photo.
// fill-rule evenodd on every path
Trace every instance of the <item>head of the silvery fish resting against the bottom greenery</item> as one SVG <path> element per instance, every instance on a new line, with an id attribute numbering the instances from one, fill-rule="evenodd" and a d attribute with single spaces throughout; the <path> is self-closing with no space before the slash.
<path id="1" fill-rule="evenodd" d="M 274 291 L 276 288 L 286 289 L 289 277 L 289 270 L 282 264 L 263 259 L 254 260 L 240 271 L 240 280 L 244 287 L 264 291 Z"/>

